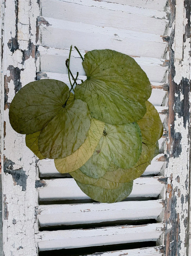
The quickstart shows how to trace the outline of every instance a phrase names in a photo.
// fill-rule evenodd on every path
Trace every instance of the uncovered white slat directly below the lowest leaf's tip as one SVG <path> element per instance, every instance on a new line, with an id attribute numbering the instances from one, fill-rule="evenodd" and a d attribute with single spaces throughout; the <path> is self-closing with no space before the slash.
<path id="1" fill-rule="evenodd" d="M 83 203 L 42 205 L 38 207 L 40 227 L 102 223 L 120 220 L 157 219 L 163 209 L 162 199 L 119 203 Z"/>

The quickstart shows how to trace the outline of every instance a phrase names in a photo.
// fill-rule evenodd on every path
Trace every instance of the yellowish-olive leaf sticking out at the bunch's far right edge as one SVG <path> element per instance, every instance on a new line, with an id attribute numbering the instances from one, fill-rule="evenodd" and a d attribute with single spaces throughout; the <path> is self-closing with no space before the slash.
<path id="1" fill-rule="evenodd" d="M 147 100 L 147 112 L 139 121 L 137 121 L 143 142 L 147 144 L 156 144 L 163 134 L 163 125 L 156 108 Z"/>

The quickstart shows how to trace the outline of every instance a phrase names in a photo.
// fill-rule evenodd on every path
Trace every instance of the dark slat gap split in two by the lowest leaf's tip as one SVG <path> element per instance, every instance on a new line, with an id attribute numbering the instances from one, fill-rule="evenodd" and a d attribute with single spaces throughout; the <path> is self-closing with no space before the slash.
<path id="1" fill-rule="evenodd" d="M 123 201 L 148 201 L 157 200 L 158 197 L 130 197 L 125 198 Z M 78 200 L 57 200 L 57 201 L 44 201 L 39 200 L 39 205 L 64 205 L 64 204 L 77 204 L 77 203 L 97 203 L 92 199 L 78 199 Z"/>

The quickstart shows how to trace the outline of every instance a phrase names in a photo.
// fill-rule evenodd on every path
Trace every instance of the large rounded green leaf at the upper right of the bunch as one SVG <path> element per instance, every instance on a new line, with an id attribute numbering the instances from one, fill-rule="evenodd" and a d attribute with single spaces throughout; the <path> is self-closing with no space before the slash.
<path id="1" fill-rule="evenodd" d="M 115 125 L 142 118 L 151 84 L 137 62 L 109 49 L 89 51 L 84 57 L 87 80 L 76 85 L 75 97 L 88 104 L 91 116 Z"/>

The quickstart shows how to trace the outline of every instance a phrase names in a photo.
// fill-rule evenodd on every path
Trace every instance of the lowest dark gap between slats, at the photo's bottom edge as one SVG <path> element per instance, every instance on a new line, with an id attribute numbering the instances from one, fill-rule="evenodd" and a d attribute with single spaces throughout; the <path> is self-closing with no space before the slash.
<path id="1" fill-rule="evenodd" d="M 121 250 L 130 250 L 135 248 L 145 248 L 145 247 L 154 247 L 156 242 L 139 242 L 139 243 L 125 243 L 125 244 L 112 244 L 107 246 L 93 246 L 93 247 L 84 247 L 84 248 L 74 248 L 74 249 L 62 249 L 62 250 L 51 250 L 39 252 L 39 256 L 87 256 L 89 254 L 99 253 L 99 252 L 108 252 L 108 251 L 121 251 Z"/>

